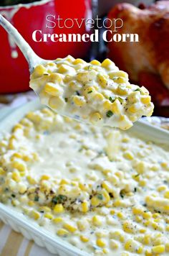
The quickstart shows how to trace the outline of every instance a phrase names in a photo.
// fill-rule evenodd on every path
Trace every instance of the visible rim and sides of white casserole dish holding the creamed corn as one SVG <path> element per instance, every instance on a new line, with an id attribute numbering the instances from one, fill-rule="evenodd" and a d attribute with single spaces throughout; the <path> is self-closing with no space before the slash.
<path id="1" fill-rule="evenodd" d="M 0 114 L 0 140 L 4 132 L 10 132 L 14 124 L 28 112 L 40 109 L 42 106 L 39 101 L 31 101 L 24 106 L 21 106 L 10 114 L 6 111 L 6 117 L 4 118 Z M 138 134 L 139 137 L 143 137 L 153 142 L 160 142 L 169 145 L 169 132 L 160 128 L 153 127 L 151 124 L 145 124 L 145 122 L 137 122 L 130 131 L 134 134 Z M 27 239 L 33 239 L 41 247 L 46 247 L 49 252 L 58 254 L 60 256 L 69 255 L 88 255 L 87 252 L 82 252 L 76 247 L 72 246 L 68 242 L 64 242 L 57 236 L 54 236 L 47 232 L 44 228 L 39 227 L 37 223 L 32 221 L 23 214 L 14 211 L 9 206 L 5 206 L 0 203 L 0 219 L 16 232 L 20 232 Z"/>

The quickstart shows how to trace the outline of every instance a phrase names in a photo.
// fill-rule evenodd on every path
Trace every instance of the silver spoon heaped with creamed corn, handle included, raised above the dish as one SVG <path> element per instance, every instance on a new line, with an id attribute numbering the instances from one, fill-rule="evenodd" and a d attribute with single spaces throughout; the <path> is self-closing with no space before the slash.
<path id="1" fill-rule="evenodd" d="M 111 60 L 86 63 L 70 55 L 44 60 L 1 15 L 0 24 L 29 63 L 30 87 L 42 104 L 59 114 L 101 126 L 129 129 L 141 116 L 153 113 L 148 90 L 130 84 L 127 73 Z"/>

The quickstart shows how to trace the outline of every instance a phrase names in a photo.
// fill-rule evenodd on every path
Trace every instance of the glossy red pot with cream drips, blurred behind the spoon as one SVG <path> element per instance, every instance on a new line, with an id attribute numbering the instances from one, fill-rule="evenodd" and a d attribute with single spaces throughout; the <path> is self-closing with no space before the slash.
<path id="1" fill-rule="evenodd" d="M 42 33 L 79 33 L 87 31 L 84 23 L 82 27 L 74 24 L 71 29 L 46 28 L 48 14 L 59 15 L 62 19 L 91 18 L 91 0 L 42 0 L 32 4 L 15 6 L 0 6 L 0 14 L 19 30 L 24 39 L 31 45 L 34 52 L 44 59 L 64 58 L 72 55 L 74 58 L 84 58 L 90 47 L 90 42 L 34 42 L 32 32 L 36 29 Z M 57 22 L 57 21 L 56 21 Z M 21 51 L 5 30 L 0 27 L 0 93 L 14 93 L 29 89 L 29 68 Z"/>

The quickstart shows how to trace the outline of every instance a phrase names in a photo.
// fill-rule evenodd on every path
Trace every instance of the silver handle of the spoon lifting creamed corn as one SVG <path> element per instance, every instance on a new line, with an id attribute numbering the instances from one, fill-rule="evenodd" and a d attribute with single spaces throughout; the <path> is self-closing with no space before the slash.
<path id="1" fill-rule="evenodd" d="M 39 56 L 32 50 L 32 47 L 30 47 L 30 45 L 19 34 L 18 30 L 10 22 L 8 22 L 1 14 L 0 24 L 16 42 L 16 45 L 19 47 L 19 49 L 21 50 L 29 64 L 30 73 L 32 73 L 33 68 L 36 65 L 43 63 L 44 60 L 42 58 L 39 58 Z"/>

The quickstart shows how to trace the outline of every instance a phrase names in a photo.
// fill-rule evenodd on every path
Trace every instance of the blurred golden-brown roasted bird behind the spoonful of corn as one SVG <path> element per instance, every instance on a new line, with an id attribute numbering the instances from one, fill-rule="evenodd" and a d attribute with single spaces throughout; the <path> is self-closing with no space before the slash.
<path id="1" fill-rule="evenodd" d="M 146 85 L 156 114 L 160 107 L 160 114 L 169 116 L 169 1 L 158 1 L 145 9 L 117 4 L 108 18 L 124 22 L 114 34 L 139 35 L 139 42 L 109 42 L 109 58 L 126 70 L 133 82 Z"/>

